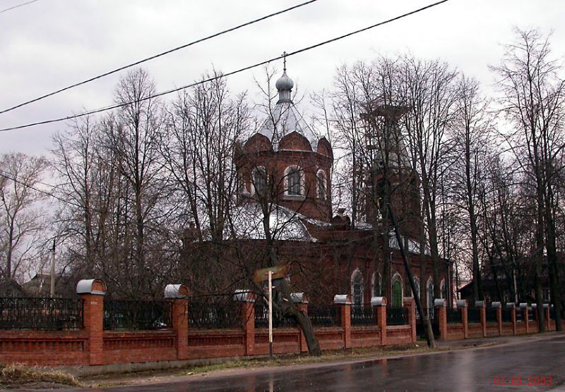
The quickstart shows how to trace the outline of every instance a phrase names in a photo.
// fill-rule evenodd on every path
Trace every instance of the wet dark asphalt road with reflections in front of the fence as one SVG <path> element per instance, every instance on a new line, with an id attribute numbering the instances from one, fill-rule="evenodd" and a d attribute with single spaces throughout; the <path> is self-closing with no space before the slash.
<path id="1" fill-rule="evenodd" d="M 505 385 L 501 385 L 502 376 Z M 541 377 L 551 385 L 540 385 Z M 192 376 L 169 384 L 100 388 L 95 391 L 509 390 L 565 391 L 565 336 L 345 365 L 310 365 L 302 369 L 259 369 L 239 375 Z"/>

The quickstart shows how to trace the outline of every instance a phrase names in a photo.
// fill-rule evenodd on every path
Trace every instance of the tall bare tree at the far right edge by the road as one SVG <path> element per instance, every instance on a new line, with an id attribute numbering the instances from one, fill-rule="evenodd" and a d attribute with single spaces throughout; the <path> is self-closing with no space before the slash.
<path id="1" fill-rule="evenodd" d="M 506 135 L 523 175 L 535 187 L 536 230 L 535 299 L 540 331 L 545 331 L 542 276 L 544 250 L 549 263 L 556 325 L 561 331 L 561 298 L 558 284 L 554 190 L 561 171 L 564 147 L 563 115 L 565 81 L 561 66 L 551 58 L 549 37 L 537 30 L 516 30 L 516 43 L 506 46 L 499 75 L 501 111 L 513 125 Z"/>

